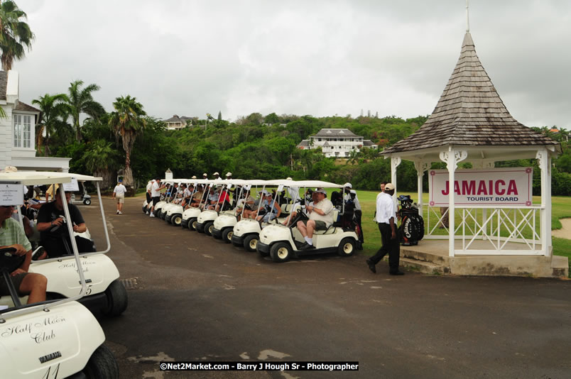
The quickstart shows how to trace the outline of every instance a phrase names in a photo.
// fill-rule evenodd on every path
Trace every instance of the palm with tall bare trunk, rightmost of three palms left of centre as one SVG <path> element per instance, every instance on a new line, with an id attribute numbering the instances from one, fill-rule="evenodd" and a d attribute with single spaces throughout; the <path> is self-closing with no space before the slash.
<path id="1" fill-rule="evenodd" d="M 125 186 L 133 187 L 131 150 L 133 150 L 138 133 L 141 133 L 146 126 L 146 120 L 142 117 L 146 113 L 143 111 L 141 103 L 136 101 L 135 97 L 129 95 L 117 97 L 113 107 L 115 111 L 111 114 L 109 126 L 113 128 L 118 137 L 121 136 L 123 150 L 125 150 Z"/>

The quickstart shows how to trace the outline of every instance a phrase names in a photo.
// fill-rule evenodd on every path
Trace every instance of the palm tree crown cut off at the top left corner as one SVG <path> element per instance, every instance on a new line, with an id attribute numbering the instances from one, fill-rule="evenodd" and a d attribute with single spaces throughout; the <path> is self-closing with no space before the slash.
<path id="1" fill-rule="evenodd" d="M 27 19 L 28 16 L 16 3 L 10 0 L 0 3 L 0 61 L 4 71 L 12 69 L 13 60 L 24 57 L 24 46 L 28 51 L 32 48 L 34 35 L 30 26 L 20 18 Z"/>

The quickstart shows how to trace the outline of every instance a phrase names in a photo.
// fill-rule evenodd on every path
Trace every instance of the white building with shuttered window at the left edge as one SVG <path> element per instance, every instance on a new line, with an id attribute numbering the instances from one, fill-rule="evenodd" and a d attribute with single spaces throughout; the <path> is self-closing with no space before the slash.
<path id="1" fill-rule="evenodd" d="M 67 172 L 71 158 L 36 157 L 36 123 L 40 110 L 19 101 L 18 72 L 0 71 L 0 170 L 11 165 L 18 170 Z"/>

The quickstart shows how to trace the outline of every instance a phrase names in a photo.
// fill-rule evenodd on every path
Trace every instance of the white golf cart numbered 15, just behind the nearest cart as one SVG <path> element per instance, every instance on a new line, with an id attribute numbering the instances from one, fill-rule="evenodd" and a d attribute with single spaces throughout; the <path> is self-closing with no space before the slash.
<path id="1" fill-rule="evenodd" d="M 98 183 L 102 178 L 88 175 L 63 174 L 62 172 L 49 172 L 46 174 L 51 175 L 51 177 L 65 177 L 65 175 L 67 175 L 77 180 L 93 181 L 96 183 L 107 248 L 104 251 L 81 253 L 80 263 L 83 272 L 87 276 L 87 292 L 80 301 L 88 307 L 100 309 L 102 314 L 107 316 L 118 316 L 126 309 L 128 299 L 125 287 L 123 283 L 119 281 L 119 270 L 117 270 L 113 261 L 106 255 L 111 249 L 111 243 L 109 241 L 109 232 L 107 231 L 107 222 L 105 220 Z M 74 232 L 71 235 L 77 234 Z M 82 234 L 82 236 L 86 235 Z M 70 241 L 75 243 L 75 238 L 71 238 Z M 68 246 L 67 242 L 65 245 Z M 71 246 L 69 246 L 69 248 L 70 251 L 66 253 L 72 253 Z M 80 291 L 81 285 L 77 282 L 77 278 L 75 278 L 77 275 L 77 267 L 79 266 L 75 262 L 74 257 L 72 255 L 65 255 L 58 258 L 32 260 L 29 272 L 40 273 L 48 278 L 48 297 L 51 299 L 60 299 L 74 297 Z"/>

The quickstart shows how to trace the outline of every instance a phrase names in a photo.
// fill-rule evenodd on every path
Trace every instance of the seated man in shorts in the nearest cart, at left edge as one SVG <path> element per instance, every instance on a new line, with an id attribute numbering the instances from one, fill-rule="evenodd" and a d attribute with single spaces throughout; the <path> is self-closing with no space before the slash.
<path id="1" fill-rule="evenodd" d="M 17 256 L 26 256 L 22 265 L 10 273 L 18 296 L 28 295 L 28 304 L 45 300 L 45 287 L 48 279 L 41 274 L 28 273 L 32 260 L 32 246 L 22 226 L 11 218 L 13 207 L 0 205 L 0 248 L 16 248 Z M 9 295 L 6 282 L 0 278 L 0 295 Z"/>

